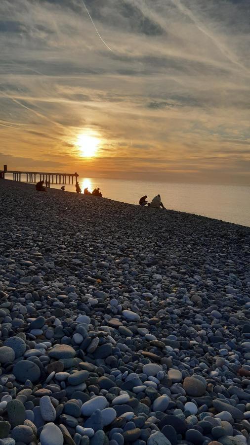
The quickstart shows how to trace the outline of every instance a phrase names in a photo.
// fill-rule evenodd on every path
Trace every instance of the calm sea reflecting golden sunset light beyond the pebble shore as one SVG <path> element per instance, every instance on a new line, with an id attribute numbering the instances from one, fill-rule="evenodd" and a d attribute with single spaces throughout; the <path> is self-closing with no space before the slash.
<path id="1" fill-rule="evenodd" d="M 6 175 L 6 179 L 12 179 Z M 26 178 L 26 177 L 25 177 Z M 25 180 L 24 175 L 22 180 Z M 148 200 L 160 193 L 167 209 L 195 213 L 230 223 L 250 226 L 250 186 L 209 185 L 167 182 L 147 182 L 137 180 L 79 178 L 82 191 L 95 187 L 105 198 L 138 204 L 141 196 Z M 61 185 L 51 184 L 60 188 Z M 74 185 L 65 185 L 67 191 L 76 191 Z"/>

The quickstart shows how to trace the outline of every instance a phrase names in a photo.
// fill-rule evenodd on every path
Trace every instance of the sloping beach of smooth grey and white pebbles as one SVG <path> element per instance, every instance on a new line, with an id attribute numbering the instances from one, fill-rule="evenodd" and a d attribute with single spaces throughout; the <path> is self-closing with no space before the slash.
<path id="1" fill-rule="evenodd" d="M 0 179 L 0 445 L 250 445 L 249 252 L 249 227 Z"/>

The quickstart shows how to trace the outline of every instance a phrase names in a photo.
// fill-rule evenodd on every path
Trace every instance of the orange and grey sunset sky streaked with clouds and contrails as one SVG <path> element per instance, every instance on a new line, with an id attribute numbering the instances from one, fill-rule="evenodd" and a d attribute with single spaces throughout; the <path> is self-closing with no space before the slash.
<path id="1" fill-rule="evenodd" d="M 1 0 L 0 168 L 250 184 L 249 23 L 249 0 Z"/>

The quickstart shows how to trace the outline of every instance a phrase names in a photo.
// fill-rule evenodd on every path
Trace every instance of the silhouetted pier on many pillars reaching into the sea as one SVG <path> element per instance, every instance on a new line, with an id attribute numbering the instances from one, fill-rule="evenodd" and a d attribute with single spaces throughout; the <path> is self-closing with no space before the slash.
<path id="1" fill-rule="evenodd" d="M 0 178 L 4 179 L 5 174 L 13 175 L 13 181 L 21 181 L 22 175 L 26 177 L 26 182 L 50 181 L 51 184 L 74 184 L 74 179 L 77 182 L 79 175 L 77 173 L 48 173 L 48 172 L 23 172 L 15 170 L 7 170 L 7 166 L 3 166 L 0 170 Z"/>

